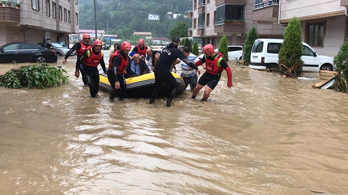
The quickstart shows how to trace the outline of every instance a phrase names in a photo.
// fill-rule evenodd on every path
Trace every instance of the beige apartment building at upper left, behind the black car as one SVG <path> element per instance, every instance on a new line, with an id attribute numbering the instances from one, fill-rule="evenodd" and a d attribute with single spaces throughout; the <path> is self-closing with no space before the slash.
<path id="1" fill-rule="evenodd" d="M 7 0 L 0 6 L 0 45 L 12 42 L 69 44 L 69 34 L 79 33 L 78 0 Z M 20 4 L 19 8 L 15 8 Z"/>

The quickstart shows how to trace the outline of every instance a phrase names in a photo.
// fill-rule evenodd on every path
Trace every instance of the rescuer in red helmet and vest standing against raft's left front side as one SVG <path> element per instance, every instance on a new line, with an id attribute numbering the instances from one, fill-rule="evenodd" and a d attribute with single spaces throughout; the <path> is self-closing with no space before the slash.
<path id="1" fill-rule="evenodd" d="M 116 97 L 117 90 L 120 90 L 120 101 L 126 97 L 127 88 L 124 74 L 127 73 L 126 68 L 128 66 L 128 60 L 130 59 L 128 56 L 130 49 L 130 43 L 126 41 L 122 42 L 120 50 L 115 51 L 109 60 L 107 79 L 112 87 L 110 99 Z"/>

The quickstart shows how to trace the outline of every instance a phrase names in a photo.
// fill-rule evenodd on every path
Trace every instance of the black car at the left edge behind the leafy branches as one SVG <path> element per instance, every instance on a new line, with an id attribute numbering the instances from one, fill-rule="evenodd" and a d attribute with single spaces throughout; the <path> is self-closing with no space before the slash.
<path id="1" fill-rule="evenodd" d="M 55 51 L 30 43 L 10 43 L 0 46 L 0 63 L 50 63 L 58 59 Z"/>

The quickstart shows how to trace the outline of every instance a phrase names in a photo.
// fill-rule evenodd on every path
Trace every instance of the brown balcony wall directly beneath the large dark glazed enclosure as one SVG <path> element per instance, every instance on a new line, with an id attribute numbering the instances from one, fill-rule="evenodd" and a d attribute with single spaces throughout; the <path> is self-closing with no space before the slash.
<path id="1" fill-rule="evenodd" d="M 215 33 L 244 33 L 245 21 L 244 20 L 224 20 L 215 22 Z"/>

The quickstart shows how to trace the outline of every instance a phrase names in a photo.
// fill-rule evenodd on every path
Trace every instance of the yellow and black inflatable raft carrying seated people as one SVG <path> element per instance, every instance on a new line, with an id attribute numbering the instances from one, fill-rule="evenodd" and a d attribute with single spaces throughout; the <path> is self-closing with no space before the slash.
<path id="1" fill-rule="evenodd" d="M 185 83 L 179 75 L 172 72 L 177 84 L 177 94 L 182 94 L 185 91 Z M 147 73 L 136 77 L 126 79 L 127 98 L 146 98 L 151 97 L 152 90 L 155 87 L 155 74 Z M 103 70 L 99 69 L 99 89 L 104 92 L 111 93 L 111 85 L 107 79 L 107 75 Z M 165 84 L 162 86 L 159 96 L 170 93 L 170 87 Z M 118 96 L 119 94 L 117 94 Z"/>

